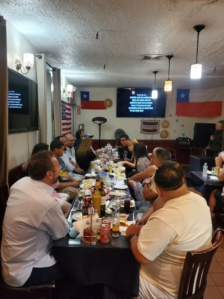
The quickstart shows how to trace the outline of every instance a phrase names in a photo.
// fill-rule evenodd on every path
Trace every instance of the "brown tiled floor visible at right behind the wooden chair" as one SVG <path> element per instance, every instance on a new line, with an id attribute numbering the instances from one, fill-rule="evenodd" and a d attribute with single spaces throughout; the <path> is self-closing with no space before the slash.
<path id="1" fill-rule="evenodd" d="M 188 190 L 201 195 L 194 188 Z M 211 263 L 204 299 L 224 299 L 224 241 Z"/>

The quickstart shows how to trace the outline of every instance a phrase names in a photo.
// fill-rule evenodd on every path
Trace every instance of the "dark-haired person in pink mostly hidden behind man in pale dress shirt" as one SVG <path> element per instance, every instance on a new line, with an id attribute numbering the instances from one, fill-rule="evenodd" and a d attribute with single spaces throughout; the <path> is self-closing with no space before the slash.
<path id="1" fill-rule="evenodd" d="M 35 154 L 39 151 L 42 150 L 48 150 L 49 146 L 45 143 L 38 143 L 37 145 L 34 146 L 33 150 L 32 150 L 32 154 Z M 26 161 L 23 165 L 22 165 L 22 171 L 24 172 L 24 176 L 28 176 L 28 167 L 29 167 L 29 160 Z M 55 183 L 54 185 L 52 185 L 51 187 L 56 189 L 57 186 L 59 185 L 59 181 L 57 181 L 57 183 Z M 67 213 L 67 211 L 70 208 L 70 203 L 68 203 L 67 201 L 70 200 L 70 196 L 66 193 L 57 193 L 56 191 L 53 192 L 53 196 L 57 198 L 60 207 L 63 211 L 64 214 Z"/>

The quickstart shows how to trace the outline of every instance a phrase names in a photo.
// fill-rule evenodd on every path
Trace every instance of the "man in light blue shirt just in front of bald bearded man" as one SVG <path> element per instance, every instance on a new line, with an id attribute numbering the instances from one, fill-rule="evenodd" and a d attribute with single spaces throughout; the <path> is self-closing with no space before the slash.
<path id="1" fill-rule="evenodd" d="M 84 176 L 79 176 L 75 174 L 75 172 L 80 173 L 80 174 L 84 174 L 83 169 L 81 169 L 76 161 L 76 158 L 73 157 L 72 155 L 70 155 L 70 153 L 68 152 L 68 148 L 67 148 L 67 140 L 65 139 L 65 137 L 63 136 L 57 136 L 55 138 L 55 140 L 60 140 L 65 147 L 65 150 L 63 152 L 63 156 L 61 156 L 61 159 L 64 161 L 65 163 L 65 169 L 68 172 L 68 174 L 70 176 L 74 176 L 77 180 L 82 181 L 83 178 L 85 178 Z"/>

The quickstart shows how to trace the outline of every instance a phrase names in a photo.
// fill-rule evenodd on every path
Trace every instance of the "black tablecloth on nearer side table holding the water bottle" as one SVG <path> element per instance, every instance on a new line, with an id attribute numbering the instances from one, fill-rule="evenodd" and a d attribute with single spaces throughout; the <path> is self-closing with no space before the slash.
<path id="1" fill-rule="evenodd" d="M 202 196 L 209 202 L 209 197 L 214 189 L 222 189 L 224 182 L 219 180 L 211 180 L 210 175 L 207 179 L 202 177 L 202 171 L 190 171 L 186 175 L 186 182 L 188 187 L 194 187 L 197 191 L 202 193 Z"/>

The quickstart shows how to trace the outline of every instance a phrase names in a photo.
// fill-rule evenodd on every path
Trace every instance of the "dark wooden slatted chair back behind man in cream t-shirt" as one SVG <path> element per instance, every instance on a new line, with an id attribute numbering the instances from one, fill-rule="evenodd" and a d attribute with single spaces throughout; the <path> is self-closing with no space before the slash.
<path id="1" fill-rule="evenodd" d="M 212 246 L 203 251 L 189 251 L 184 262 L 178 299 L 202 299 L 213 256 L 223 241 L 224 229 L 218 228 Z"/>

